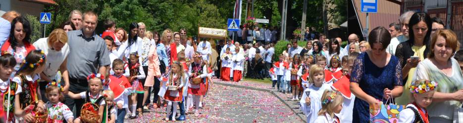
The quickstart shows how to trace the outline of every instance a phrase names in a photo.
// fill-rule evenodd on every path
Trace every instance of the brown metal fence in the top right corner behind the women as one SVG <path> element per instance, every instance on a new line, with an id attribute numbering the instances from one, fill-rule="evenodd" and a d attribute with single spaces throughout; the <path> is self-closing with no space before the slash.
<path id="1" fill-rule="evenodd" d="M 401 13 L 413 10 L 424 11 L 425 0 L 403 0 Z M 431 17 L 441 18 L 447 29 L 457 34 L 460 44 L 463 44 L 463 0 L 446 0 L 445 8 L 428 8 L 425 12 Z M 463 47 L 460 47 L 463 50 Z"/>

